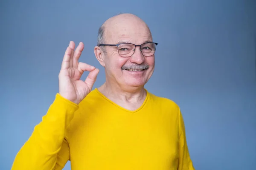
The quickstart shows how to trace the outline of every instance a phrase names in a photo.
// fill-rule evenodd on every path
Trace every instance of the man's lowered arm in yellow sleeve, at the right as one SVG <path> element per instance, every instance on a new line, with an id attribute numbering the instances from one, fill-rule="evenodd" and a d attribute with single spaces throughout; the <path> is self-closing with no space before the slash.
<path id="1" fill-rule="evenodd" d="M 179 166 L 178 170 L 195 170 L 192 160 L 189 156 L 189 150 L 186 143 L 186 132 L 182 114 L 179 111 Z"/>

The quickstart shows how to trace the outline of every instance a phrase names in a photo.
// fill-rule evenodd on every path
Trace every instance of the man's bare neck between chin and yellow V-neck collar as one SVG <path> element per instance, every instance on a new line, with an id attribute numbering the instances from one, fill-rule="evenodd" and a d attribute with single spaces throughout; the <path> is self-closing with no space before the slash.
<path id="1" fill-rule="evenodd" d="M 144 101 L 146 91 L 144 87 L 122 87 L 106 81 L 98 90 L 107 98 L 116 101 L 136 103 Z"/>

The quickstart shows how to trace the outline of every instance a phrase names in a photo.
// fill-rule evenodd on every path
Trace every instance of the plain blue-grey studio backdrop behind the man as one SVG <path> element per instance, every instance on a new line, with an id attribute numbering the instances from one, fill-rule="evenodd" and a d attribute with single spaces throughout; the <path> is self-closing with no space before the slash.
<path id="1" fill-rule="evenodd" d="M 84 42 L 80 61 L 100 69 L 95 87 L 105 81 L 93 53 L 97 31 L 126 12 L 141 17 L 159 43 L 145 87 L 180 106 L 196 170 L 255 170 L 254 0 L 2 0 L 0 169 L 11 168 L 53 102 L 70 40 Z"/>

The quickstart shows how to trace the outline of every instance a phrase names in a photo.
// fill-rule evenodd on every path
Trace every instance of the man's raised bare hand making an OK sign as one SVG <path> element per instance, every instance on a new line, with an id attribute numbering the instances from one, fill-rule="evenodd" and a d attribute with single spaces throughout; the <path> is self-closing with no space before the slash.
<path id="1" fill-rule="evenodd" d="M 63 57 L 59 78 L 59 94 L 65 99 L 79 104 L 93 88 L 99 69 L 83 62 L 78 62 L 84 49 L 82 42 L 76 48 L 75 42 L 70 41 Z M 90 71 L 85 81 L 80 80 L 84 71 Z"/>

